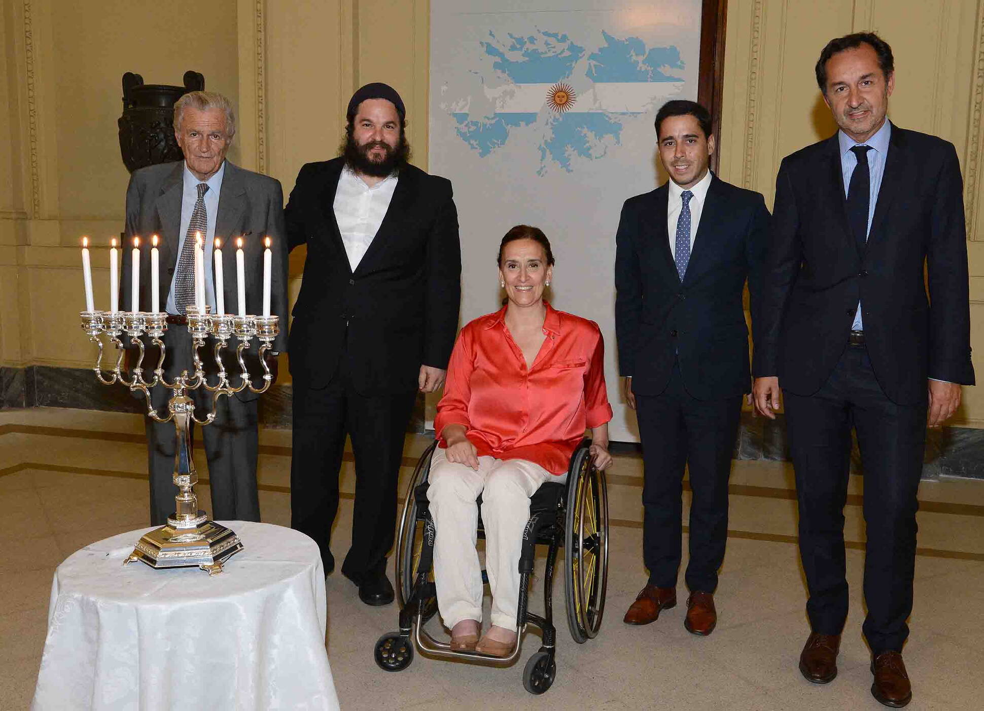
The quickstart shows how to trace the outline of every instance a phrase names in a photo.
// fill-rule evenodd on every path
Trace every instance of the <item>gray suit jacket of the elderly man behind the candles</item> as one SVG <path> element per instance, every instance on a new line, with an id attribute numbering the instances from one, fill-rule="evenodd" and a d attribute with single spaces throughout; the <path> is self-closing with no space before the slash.
<path id="1" fill-rule="evenodd" d="M 167 303 L 181 228 L 181 193 L 183 161 L 149 165 L 134 171 L 126 193 L 126 240 L 139 236 L 144 244 L 152 234 L 160 237 L 160 305 Z M 271 314 L 279 316 L 280 334 L 274 351 L 287 350 L 287 238 L 283 226 L 283 192 L 275 178 L 225 162 L 222 190 L 218 196 L 215 236 L 222 240 L 222 277 L 226 311 L 234 312 L 236 296 L 235 242 L 245 237 L 246 312 L 262 313 L 263 308 L 263 238 L 273 240 L 273 274 L 271 276 Z M 120 279 L 120 306 L 130 308 L 130 252 L 124 248 Z M 213 263 L 206 269 L 213 269 Z M 141 304 L 151 303 L 151 250 L 141 250 Z M 256 341 L 253 342 L 254 349 Z"/>

